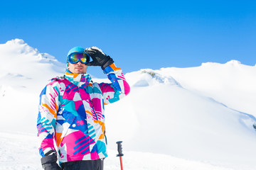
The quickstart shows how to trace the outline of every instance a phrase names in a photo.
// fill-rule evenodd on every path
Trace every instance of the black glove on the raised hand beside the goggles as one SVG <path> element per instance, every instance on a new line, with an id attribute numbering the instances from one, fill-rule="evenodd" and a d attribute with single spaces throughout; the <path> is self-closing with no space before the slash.
<path id="1" fill-rule="evenodd" d="M 86 48 L 85 52 L 92 57 L 92 62 L 88 62 L 87 66 L 101 66 L 102 69 L 105 69 L 110 64 L 114 63 L 112 58 L 105 55 L 98 47 Z"/>

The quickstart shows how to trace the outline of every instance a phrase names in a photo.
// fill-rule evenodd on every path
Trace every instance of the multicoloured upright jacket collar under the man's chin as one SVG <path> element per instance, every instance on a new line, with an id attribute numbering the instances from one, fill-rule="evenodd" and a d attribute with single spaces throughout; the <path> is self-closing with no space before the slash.
<path id="1" fill-rule="evenodd" d="M 66 69 L 65 78 L 76 86 L 87 86 L 92 80 L 89 74 L 73 74 L 68 69 Z"/>

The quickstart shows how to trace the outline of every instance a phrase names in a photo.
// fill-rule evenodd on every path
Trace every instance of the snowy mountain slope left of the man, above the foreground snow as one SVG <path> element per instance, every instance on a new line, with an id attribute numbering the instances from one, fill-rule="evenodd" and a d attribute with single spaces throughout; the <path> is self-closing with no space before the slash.
<path id="1" fill-rule="evenodd" d="M 1 44 L 0 59 L 1 127 L 36 132 L 38 96 L 49 79 L 63 74 L 65 64 L 20 39 Z"/>

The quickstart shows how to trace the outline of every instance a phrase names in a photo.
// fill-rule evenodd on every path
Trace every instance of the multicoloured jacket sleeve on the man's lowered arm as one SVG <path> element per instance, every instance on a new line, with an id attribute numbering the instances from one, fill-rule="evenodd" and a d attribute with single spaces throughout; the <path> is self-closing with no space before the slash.
<path id="1" fill-rule="evenodd" d="M 55 123 L 58 111 L 58 92 L 53 87 L 53 83 L 48 84 L 41 92 L 38 110 L 39 153 L 44 157 L 51 150 L 55 152 L 53 138 L 55 136 Z"/>

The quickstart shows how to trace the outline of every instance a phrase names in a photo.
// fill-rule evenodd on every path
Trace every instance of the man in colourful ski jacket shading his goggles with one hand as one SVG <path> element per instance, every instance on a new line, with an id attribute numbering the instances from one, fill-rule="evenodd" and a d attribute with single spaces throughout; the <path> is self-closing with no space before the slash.
<path id="1" fill-rule="evenodd" d="M 52 79 L 41 92 L 41 163 L 46 170 L 102 170 L 107 157 L 104 105 L 129 94 L 129 85 L 112 58 L 97 47 L 74 47 L 67 60 L 64 77 Z M 92 83 L 87 66 L 100 66 L 112 84 Z"/>

